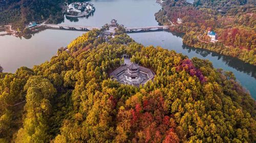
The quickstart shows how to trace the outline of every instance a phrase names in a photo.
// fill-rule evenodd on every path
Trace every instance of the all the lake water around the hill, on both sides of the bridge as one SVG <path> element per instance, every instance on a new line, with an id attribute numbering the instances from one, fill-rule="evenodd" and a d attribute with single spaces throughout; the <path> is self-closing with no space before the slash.
<path id="1" fill-rule="evenodd" d="M 157 26 L 154 14 L 161 9 L 155 0 L 94 0 L 96 11 L 90 17 L 67 19 L 59 25 L 81 25 L 101 27 L 116 19 L 125 27 Z M 20 66 L 33 67 L 56 54 L 61 46 L 83 32 L 45 30 L 35 34 L 30 39 L 19 39 L 13 36 L 0 37 L 0 64 L 5 72 L 14 73 Z M 230 70 L 237 80 L 250 91 L 256 99 L 256 66 L 223 56 L 208 50 L 195 49 L 182 43 L 182 34 L 170 32 L 148 32 L 129 34 L 135 41 L 144 45 L 159 45 L 168 50 L 187 55 L 189 58 L 198 57 L 209 59 L 215 68 Z"/>

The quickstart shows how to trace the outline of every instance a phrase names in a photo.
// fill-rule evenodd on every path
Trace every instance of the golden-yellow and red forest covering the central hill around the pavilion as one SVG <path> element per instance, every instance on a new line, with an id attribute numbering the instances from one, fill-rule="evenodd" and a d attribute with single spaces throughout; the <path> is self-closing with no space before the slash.
<path id="1" fill-rule="evenodd" d="M 0 73 L 0 142 L 255 142 L 255 101 L 208 60 L 90 31 L 50 61 Z M 151 68 L 144 86 L 109 72 Z"/>

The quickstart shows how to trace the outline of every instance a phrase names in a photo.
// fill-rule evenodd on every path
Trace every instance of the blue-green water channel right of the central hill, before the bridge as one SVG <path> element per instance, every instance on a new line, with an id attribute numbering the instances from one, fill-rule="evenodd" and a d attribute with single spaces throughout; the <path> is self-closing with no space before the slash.
<path id="1" fill-rule="evenodd" d="M 256 66 L 244 63 L 243 61 L 211 52 L 206 49 L 196 49 L 195 47 L 187 46 L 182 42 L 182 33 L 174 32 L 149 32 L 149 33 L 133 33 L 129 34 L 135 41 L 148 46 L 161 46 L 168 50 L 175 50 L 177 53 L 186 55 L 188 58 L 198 57 L 208 59 L 212 62 L 215 68 L 232 71 L 240 82 L 256 99 Z"/>

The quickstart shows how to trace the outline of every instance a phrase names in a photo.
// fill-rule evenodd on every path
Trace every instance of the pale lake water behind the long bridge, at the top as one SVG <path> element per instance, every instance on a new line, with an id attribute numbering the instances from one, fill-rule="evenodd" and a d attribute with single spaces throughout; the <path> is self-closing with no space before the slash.
<path id="1" fill-rule="evenodd" d="M 156 0 L 93 0 L 90 3 L 94 4 L 96 9 L 92 16 L 70 20 L 65 18 L 60 25 L 102 27 L 112 19 L 116 19 L 125 27 L 158 25 L 154 14 L 161 6 L 156 4 Z"/>

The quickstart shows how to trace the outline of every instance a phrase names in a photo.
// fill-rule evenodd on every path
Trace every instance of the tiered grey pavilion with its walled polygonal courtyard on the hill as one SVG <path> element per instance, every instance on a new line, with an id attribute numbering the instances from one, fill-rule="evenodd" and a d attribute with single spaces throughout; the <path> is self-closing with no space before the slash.
<path id="1" fill-rule="evenodd" d="M 154 73 L 151 69 L 132 63 L 118 67 L 110 74 L 110 77 L 122 84 L 139 86 L 140 84 L 144 85 L 147 81 L 152 80 Z"/>

